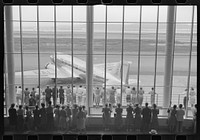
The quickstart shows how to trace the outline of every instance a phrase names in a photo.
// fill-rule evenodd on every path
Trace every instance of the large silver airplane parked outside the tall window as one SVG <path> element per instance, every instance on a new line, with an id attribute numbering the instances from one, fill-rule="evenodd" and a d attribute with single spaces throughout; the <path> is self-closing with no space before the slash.
<path id="1" fill-rule="evenodd" d="M 40 78 L 50 78 L 53 81 L 65 81 L 72 78 L 73 67 L 73 79 L 86 80 L 86 62 L 66 54 L 58 54 L 56 56 L 57 75 L 55 75 L 55 55 L 50 55 L 51 62 L 47 63 L 44 69 L 40 69 Z M 136 79 L 129 79 L 129 69 L 131 62 L 123 62 L 123 81 L 122 85 L 136 85 Z M 121 85 L 121 62 L 107 63 L 106 66 L 106 88 L 111 86 Z M 102 83 L 104 86 L 105 64 L 94 64 L 93 67 L 93 81 Z M 20 76 L 21 72 L 16 72 L 15 76 Z M 24 78 L 31 76 L 38 76 L 38 70 L 23 71 Z"/>

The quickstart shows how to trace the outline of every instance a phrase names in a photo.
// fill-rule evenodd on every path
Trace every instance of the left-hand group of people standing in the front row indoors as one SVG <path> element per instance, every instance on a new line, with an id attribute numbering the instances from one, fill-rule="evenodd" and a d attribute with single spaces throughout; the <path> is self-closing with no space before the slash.
<path id="1" fill-rule="evenodd" d="M 73 107 L 52 106 L 49 101 L 45 107 L 41 103 L 41 108 L 36 105 L 34 108 L 19 105 L 15 109 L 15 104 L 9 108 L 9 124 L 14 131 L 70 131 L 78 130 L 85 132 L 87 111 L 85 106 L 74 105 Z"/>

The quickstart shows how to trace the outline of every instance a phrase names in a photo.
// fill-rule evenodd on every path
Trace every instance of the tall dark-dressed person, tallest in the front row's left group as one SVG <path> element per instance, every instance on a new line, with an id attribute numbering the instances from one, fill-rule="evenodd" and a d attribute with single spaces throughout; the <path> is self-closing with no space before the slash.
<path id="1" fill-rule="evenodd" d="M 53 107 L 51 106 L 51 101 L 49 101 L 49 106 L 46 108 L 47 113 L 47 129 L 53 130 L 54 118 L 53 118 Z"/>

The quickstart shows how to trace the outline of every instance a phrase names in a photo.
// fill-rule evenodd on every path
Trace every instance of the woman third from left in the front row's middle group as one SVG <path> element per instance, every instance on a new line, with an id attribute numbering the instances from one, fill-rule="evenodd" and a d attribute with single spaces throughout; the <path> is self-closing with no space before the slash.
<path id="1" fill-rule="evenodd" d="M 133 108 L 129 104 L 128 107 L 126 108 L 127 115 L 126 115 L 126 128 L 127 131 L 131 131 L 131 126 L 133 124 Z"/>

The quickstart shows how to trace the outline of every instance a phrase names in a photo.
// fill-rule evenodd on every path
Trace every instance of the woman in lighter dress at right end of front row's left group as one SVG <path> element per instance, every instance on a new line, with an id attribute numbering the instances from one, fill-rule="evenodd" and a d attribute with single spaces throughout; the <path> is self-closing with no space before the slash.
<path id="1" fill-rule="evenodd" d="M 79 107 L 79 111 L 76 115 L 77 118 L 77 130 L 82 133 L 85 130 L 84 119 L 86 118 L 85 112 L 82 111 L 82 107 Z"/>

